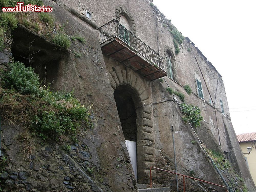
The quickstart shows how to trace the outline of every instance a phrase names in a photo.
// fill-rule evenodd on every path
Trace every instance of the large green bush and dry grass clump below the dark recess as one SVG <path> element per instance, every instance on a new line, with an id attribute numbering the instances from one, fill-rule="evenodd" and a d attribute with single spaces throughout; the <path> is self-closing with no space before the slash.
<path id="1" fill-rule="evenodd" d="M 74 135 L 78 127 L 91 128 L 91 108 L 79 103 L 73 93 L 50 91 L 39 86 L 38 75 L 23 63 L 9 63 L 1 71 L 0 113 L 9 121 L 19 122 L 42 139 L 59 140 Z"/>

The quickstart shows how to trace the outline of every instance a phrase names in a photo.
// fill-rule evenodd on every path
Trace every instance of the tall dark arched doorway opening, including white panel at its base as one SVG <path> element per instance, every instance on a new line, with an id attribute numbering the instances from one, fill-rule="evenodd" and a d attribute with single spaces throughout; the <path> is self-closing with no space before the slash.
<path id="1" fill-rule="evenodd" d="M 137 125 L 136 108 L 140 99 L 130 86 L 122 84 L 116 87 L 114 98 L 118 110 L 126 147 L 131 159 L 135 178 L 137 179 Z"/>

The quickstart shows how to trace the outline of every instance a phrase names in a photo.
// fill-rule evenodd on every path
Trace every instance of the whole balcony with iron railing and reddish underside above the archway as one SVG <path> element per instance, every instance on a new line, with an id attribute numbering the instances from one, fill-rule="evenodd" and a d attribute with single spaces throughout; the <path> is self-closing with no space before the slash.
<path id="1" fill-rule="evenodd" d="M 166 76 L 164 58 L 114 19 L 99 28 L 104 54 L 152 81 Z"/>

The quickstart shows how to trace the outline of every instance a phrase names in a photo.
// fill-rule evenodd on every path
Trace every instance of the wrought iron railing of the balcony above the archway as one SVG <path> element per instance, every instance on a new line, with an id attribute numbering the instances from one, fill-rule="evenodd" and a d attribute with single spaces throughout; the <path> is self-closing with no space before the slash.
<path id="1" fill-rule="evenodd" d="M 146 45 L 142 40 L 136 37 L 131 31 L 122 26 L 118 20 L 114 19 L 99 28 L 100 43 L 118 37 L 125 42 L 131 50 L 135 50 L 145 58 L 150 60 L 153 65 L 157 65 L 164 70 L 164 58 L 161 57 L 150 46 Z"/>

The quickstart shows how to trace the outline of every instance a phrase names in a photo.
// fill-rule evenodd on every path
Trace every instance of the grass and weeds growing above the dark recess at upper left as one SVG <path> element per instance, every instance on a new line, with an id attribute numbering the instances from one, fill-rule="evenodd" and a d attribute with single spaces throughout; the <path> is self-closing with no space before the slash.
<path id="1" fill-rule="evenodd" d="M 15 6 L 16 1 L 0 0 L 1 6 Z M 42 5 L 40 0 L 25 0 L 24 4 Z M 67 49 L 71 41 L 65 33 L 65 24 L 55 23 L 53 17 L 49 13 L 34 13 L 34 12 L 16 12 L 16 13 L 0 13 L 0 50 L 4 48 L 4 42 L 10 38 L 10 30 L 17 28 L 21 24 L 29 30 L 35 32 L 39 36 L 44 36 L 51 39 L 58 47 Z M 83 38 L 77 38 L 84 43 Z"/>

